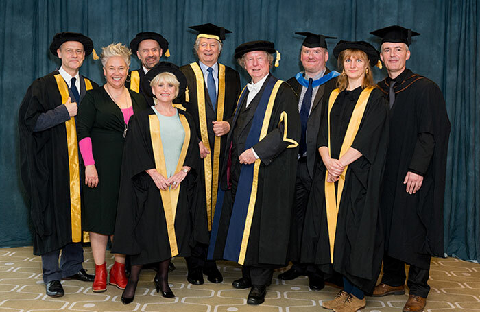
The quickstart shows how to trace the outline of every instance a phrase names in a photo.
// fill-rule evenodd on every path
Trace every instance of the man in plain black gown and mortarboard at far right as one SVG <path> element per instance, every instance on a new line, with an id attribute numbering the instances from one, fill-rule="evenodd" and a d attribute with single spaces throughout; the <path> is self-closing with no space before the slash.
<path id="1" fill-rule="evenodd" d="M 443 202 L 450 122 L 435 82 L 405 67 L 410 29 L 391 26 L 372 34 L 382 38 L 381 60 L 388 77 L 379 82 L 390 105 L 390 144 L 381 209 L 385 226 L 383 278 L 374 296 L 405 293 L 403 311 L 422 311 L 429 293 L 431 256 L 444 256 Z"/>

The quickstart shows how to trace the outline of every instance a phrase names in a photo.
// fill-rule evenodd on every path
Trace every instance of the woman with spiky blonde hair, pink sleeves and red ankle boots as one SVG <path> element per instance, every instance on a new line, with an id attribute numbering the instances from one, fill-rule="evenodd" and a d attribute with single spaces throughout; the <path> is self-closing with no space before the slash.
<path id="1" fill-rule="evenodd" d="M 95 261 L 94 292 L 106 291 L 105 250 L 113 240 L 119 195 L 121 157 L 128 119 L 146 108 L 142 95 L 125 88 L 132 52 L 121 43 L 102 48 L 106 84 L 88 91 L 78 108 L 77 136 L 84 160 L 83 228 L 89 232 Z M 124 289 L 125 255 L 115 254 L 109 283 Z"/>

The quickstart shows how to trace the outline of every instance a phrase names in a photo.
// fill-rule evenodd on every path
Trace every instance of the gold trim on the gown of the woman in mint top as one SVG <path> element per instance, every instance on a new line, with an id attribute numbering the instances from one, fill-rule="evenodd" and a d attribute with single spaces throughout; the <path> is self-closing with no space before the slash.
<path id="1" fill-rule="evenodd" d="M 182 170 L 185 157 L 187 156 L 187 149 L 190 142 L 190 128 L 187 118 L 183 114 L 178 114 L 180 117 L 180 122 L 182 123 L 183 129 L 185 131 L 185 138 L 182 145 L 182 150 L 180 152 L 180 158 L 178 158 L 177 167 L 175 173 L 178 173 Z M 155 158 L 155 169 L 165 178 L 167 176 L 167 167 L 165 165 L 165 155 L 163 154 L 163 145 L 162 138 L 160 136 L 160 123 L 158 117 L 154 115 L 149 115 L 150 122 L 150 136 L 152 136 L 152 149 L 154 150 Z M 163 191 L 160 189 L 160 197 L 162 197 L 163 204 L 163 213 L 165 213 L 165 221 L 167 222 L 167 232 L 168 239 L 170 243 L 170 252 L 171 256 L 176 256 L 178 254 L 178 245 L 177 237 L 175 234 L 175 216 L 177 213 L 177 204 L 178 204 L 178 195 L 180 194 L 180 185 L 176 189 L 167 189 Z"/>

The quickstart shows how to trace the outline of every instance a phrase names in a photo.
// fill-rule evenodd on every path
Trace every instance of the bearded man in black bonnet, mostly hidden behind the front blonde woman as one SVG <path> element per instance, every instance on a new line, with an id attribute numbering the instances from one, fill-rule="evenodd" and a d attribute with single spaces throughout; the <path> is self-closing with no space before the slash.
<path id="1" fill-rule="evenodd" d="M 148 106 L 153 106 L 154 100 L 143 91 L 142 82 L 145 74 L 160 62 L 163 55 L 167 58 L 170 56 L 168 41 L 156 32 L 139 32 L 130 41 L 130 49 L 132 54 L 139 58 L 142 67 L 128 73 L 130 79 L 125 81 L 125 86 L 136 93 L 141 93 Z"/>

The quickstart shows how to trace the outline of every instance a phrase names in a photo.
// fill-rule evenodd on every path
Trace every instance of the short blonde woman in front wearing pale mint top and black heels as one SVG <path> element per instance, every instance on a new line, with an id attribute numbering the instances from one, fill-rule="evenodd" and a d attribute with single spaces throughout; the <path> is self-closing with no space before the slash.
<path id="1" fill-rule="evenodd" d="M 173 297 L 168 285 L 171 257 L 189 256 L 193 241 L 208 241 L 206 216 L 200 220 L 202 214 L 195 209 L 200 163 L 195 123 L 183 106 L 173 104 L 186 85 L 176 65 L 160 62 L 143 80 L 155 106 L 130 121 L 112 246 L 112 252 L 128 254 L 132 262 L 121 297 L 124 304 L 133 301 L 139 274 L 148 263 L 159 263 L 156 291 Z"/>

